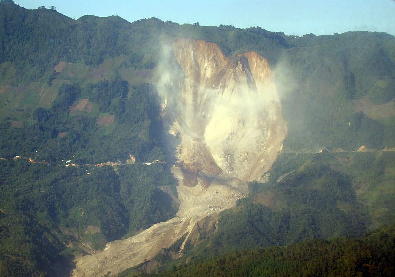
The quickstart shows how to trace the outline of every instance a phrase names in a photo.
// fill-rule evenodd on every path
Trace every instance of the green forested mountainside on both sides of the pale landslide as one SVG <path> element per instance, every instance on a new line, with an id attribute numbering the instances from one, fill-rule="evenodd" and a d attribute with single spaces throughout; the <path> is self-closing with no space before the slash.
<path id="1" fill-rule="evenodd" d="M 388 230 L 336 238 L 395 223 L 394 152 L 378 151 L 395 147 L 394 36 L 297 37 L 158 18 L 74 20 L 1 1 L 0 276 L 67 276 L 74 255 L 175 216 L 176 180 L 166 164 L 155 84 L 162 47 L 180 37 L 214 42 L 229 57 L 265 57 L 288 135 L 269 177 L 250 183 L 251 194 L 214 218 L 214 229 L 189 241 L 179 261 L 157 256 L 163 269 L 180 267 L 165 274 L 184 274 L 185 262 L 196 259 L 203 263 L 191 272 L 219 276 L 228 269 L 218 264 L 248 259 L 254 266 L 244 267 L 245 275 L 265 269 L 270 276 L 271 263 L 286 264 L 275 274 L 287 275 L 306 248 L 319 256 L 327 245 L 332 254 L 344 246 L 347 254 L 367 243 L 369 255 L 393 245 Z M 352 152 L 362 145 L 367 152 Z M 324 147 L 333 152 L 315 153 Z M 389 275 L 390 250 L 375 252 L 383 264 L 351 257 L 349 268 L 357 269 L 347 274 Z M 306 255 L 317 263 L 316 254 Z M 316 267 L 332 274 L 333 264 Z"/>

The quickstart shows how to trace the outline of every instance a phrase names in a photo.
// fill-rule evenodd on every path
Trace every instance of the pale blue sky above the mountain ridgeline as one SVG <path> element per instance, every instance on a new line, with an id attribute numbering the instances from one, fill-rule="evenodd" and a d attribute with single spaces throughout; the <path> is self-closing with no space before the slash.
<path id="1" fill-rule="evenodd" d="M 130 22 L 158 17 L 180 24 L 260 26 L 286 35 L 379 31 L 395 35 L 395 0 L 14 0 L 55 6 L 71 18 L 118 15 Z"/>

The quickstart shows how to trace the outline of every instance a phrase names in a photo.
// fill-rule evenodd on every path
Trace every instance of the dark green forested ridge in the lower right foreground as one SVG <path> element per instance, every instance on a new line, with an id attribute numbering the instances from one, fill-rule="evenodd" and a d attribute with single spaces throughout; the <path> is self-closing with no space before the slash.
<path id="1" fill-rule="evenodd" d="M 393 276 L 394 228 L 365 237 L 309 241 L 190 261 L 159 274 L 119 276 Z"/>

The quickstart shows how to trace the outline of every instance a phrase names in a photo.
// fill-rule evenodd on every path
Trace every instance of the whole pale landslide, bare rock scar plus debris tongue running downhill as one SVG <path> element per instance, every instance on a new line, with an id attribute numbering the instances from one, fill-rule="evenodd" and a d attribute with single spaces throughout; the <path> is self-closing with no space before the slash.
<path id="1" fill-rule="evenodd" d="M 265 59 L 248 52 L 234 61 L 214 43 L 193 39 L 177 40 L 173 53 L 177 69 L 167 67 L 158 91 L 169 155 L 176 159 L 177 216 L 77 258 L 74 277 L 117 274 L 184 235 L 181 249 L 197 240 L 197 222 L 246 197 L 246 181 L 258 179 L 281 151 L 287 127 Z"/>

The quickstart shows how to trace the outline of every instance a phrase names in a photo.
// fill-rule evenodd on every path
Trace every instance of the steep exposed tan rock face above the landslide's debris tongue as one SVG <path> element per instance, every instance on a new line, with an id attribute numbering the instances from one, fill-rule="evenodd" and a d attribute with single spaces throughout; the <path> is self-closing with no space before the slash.
<path id="1" fill-rule="evenodd" d="M 202 40 L 179 39 L 173 50 L 183 76 L 167 93 L 173 103 L 164 117 L 180 139 L 184 184 L 221 172 L 243 181 L 262 176 L 287 133 L 268 62 L 255 52 L 230 59 Z"/>

